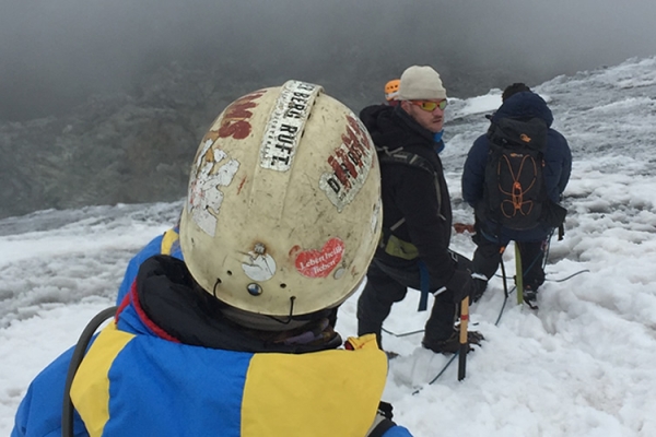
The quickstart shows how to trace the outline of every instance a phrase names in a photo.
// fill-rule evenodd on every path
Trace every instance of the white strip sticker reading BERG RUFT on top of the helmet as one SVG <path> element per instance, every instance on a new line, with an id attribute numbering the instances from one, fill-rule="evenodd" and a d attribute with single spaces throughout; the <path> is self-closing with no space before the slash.
<path id="1" fill-rule="evenodd" d="M 282 85 L 260 146 L 262 168 L 290 169 L 314 101 L 321 91 L 319 85 L 300 81 Z"/>

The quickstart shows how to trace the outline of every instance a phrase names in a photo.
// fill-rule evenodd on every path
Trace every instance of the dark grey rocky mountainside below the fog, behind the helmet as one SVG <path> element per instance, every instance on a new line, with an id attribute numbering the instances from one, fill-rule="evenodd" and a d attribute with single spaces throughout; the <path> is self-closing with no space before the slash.
<path id="1" fill-rule="evenodd" d="M 356 73 L 368 79 L 351 80 Z M 389 80 L 375 64 L 364 72 L 324 74 L 332 79 L 315 82 L 354 111 L 380 103 Z M 225 68 L 172 63 L 129 93 L 95 95 L 45 118 L 0 121 L 0 218 L 47 209 L 180 199 L 198 142 L 229 103 L 286 79 L 308 80 L 260 76 L 236 80 Z M 480 78 L 449 71 L 443 78 L 449 94 L 490 90 Z"/>

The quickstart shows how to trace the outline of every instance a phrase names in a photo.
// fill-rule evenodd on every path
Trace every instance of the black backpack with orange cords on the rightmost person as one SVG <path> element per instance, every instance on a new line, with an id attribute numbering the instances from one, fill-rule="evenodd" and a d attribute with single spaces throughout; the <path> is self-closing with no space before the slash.
<path id="1" fill-rule="evenodd" d="M 544 215 L 550 215 L 542 175 L 547 132 L 548 126 L 540 118 L 492 121 L 487 134 L 490 152 L 480 208 L 483 218 L 523 231 L 536 227 Z"/>

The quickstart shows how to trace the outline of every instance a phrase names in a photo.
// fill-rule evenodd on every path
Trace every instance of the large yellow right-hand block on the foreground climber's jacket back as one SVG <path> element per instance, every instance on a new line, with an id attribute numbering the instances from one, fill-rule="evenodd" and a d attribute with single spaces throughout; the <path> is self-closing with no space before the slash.
<path id="1" fill-rule="evenodd" d="M 256 354 L 242 436 L 365 436 L 385 388 L 387 357 L 373 334 L 350 340 L 354 351 Z"/>

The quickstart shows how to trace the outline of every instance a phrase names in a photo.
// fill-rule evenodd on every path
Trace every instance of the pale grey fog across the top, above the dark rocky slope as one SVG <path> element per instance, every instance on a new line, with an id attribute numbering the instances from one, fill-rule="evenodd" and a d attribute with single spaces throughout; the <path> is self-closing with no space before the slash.
<path id="1" fill-rule="evenodd" d="M 60 115 L 92 94 L 137 93 L 172 62 L 340 98 L 382 98 L 409 64 L 454 96 L 656 52 L 653 0 L 2 0 L 0 120 Z"/>

